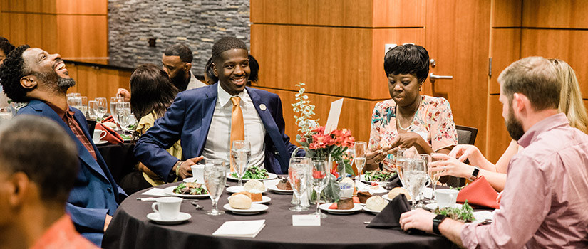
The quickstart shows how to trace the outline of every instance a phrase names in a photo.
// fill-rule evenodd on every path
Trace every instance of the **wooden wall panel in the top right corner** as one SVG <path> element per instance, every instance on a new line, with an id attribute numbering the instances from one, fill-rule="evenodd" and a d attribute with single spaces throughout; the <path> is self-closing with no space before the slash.
<path id="1" fill-rule="evenodd" d="M 584 0 L 524 0 L 522 25 L 541 28 L 588 28 Z"/>

